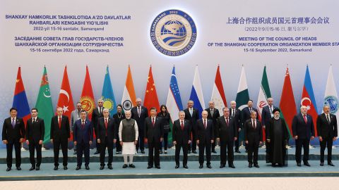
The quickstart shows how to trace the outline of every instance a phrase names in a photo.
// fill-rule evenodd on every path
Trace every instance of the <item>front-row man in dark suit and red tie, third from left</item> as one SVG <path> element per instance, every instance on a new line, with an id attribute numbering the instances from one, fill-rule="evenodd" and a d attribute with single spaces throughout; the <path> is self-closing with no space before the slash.
<path id="1" fill-rule="evenodd" d="M 55 115 L 51 121 L 50 139 L 54 149 L 54 170 L 58 170 L 60 146 L 62 151 L 62 165 L 64 165 L 64 170 L 67 170 L 67 146 L 71 136 L 69 118 L 66 115 L 62 115 L 62 113 L 64 113 L 64 110 L 60 107 L 57 108 L 57 115 Z"/>

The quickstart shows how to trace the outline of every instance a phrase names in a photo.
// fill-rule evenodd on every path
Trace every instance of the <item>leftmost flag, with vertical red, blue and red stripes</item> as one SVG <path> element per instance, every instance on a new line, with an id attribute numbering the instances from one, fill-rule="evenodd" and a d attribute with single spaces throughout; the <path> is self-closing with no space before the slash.
<path id="1" fill-rule="evenodd" d="M 27 120 L 30 118 L 30 106 L 23 86 L 23 79 L 21 78 L 21 68 L 18 68 L 18 75 L 16 77 L 16 89 L 13 97 L 13 108 L 18 110 L 18 118 L 23 118 L 26 125 Z"/>

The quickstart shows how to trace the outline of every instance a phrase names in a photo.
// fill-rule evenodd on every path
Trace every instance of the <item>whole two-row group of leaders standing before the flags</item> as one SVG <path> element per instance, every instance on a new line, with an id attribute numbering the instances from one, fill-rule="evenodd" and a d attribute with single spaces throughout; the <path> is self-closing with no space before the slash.
<path id="1" fill-rule="evenodd" d="M 266 163 L 275 166 L 287 165 L 287 141 L 290 134 L 286 122 L 280 118 L 280 110 L 273 106 L 273 99 L 269 98 L 268 106 L 262 110 L 261 122 L 258 120 L 258 111 L 253 108 L 253 101 L 249 100 L 247 107 L 237 109 L 236 102 L 231 101 L 230 108 L 219 110 L 214 108 L 213 101 L 208 103 L 209 108 L 203 110 L 201 119 L 194 108 L 194 102 L 189 101 L 185 110 L 179 111 L 179 119 L 172 126 L 172 141 L 175 146 L 175 168 L 179 168 L 179 154 L 183 150 L 183 167 L 188 169 L 188 153 L 197 153 L 198 146 L 199 168 L 203 168 L 206 154 L 206 167 L 211 168 L 211 152 L 215 152 L 215 144 L 220 144 L 220 168 L 234 166 L 234 151 L 239 151 L 239 134 L 244 134 L 246 153 L 248 154 L 249 167 L 259 167 L 258 148 L 263 143 L 263 129 L 266 135 Z M 123 168 L 133 165 L 133 156 L 145 153 L 145 144 L 148 144 L 148 169 L 156 167 L 160 169 L 160 153 L 164 142 L 164 153 L 167 153 L 168 133 L 171 130 L 169 121 L 171 117 L 165 105 L 157 108 L 142 106 L 141 99 L 136 99 L 136 106 L 123 112 L 122 106 L 117 106 L 117 113 L 112 117 L 109 110 L 103 107 L 102 99 L 97 101 L 97 108 L 93 110 L 92 120 L 88 119 L 88 113 L 81 109 L 78 102 L 76 110 L 71 113 L 71 122 L 63 115 L 62 108 L 57 108 L 57 115 L 52 118 L 50 126 L 50 141 L 54 148 L 54 170 L 59 168 L 59 149 L 63 154 L 64 170 L 67 170 L 68 142 L 73 132 L 73 142 L 77 155 L 76 170 L 80 170 L 85 157 L 85 169 L 90 170 L 90 145 L 93 141 L 97 144 L 97 152 L 100 153 L 100 170 L 105 168 L 105 153 L 108 151 L 107 167 L 112 170 L 113 147 L 117 153 L 124 156 Z M 30 151 L 30 170 L 40 170 L 42 162 L 42 142 L 44 139 L 44 120 L 38 117 L 37 108 L 32 108 L 31 118 L 25 124 L 22 118 L 17 117 L 18 110 L 10 109 L 10 117 L 4 120 L 2 141 L 7 150 L 7 171 L 12 167 L 13 146 L 16 152 L 16 169 L 21 170 L 20 148 L 24 139 Z M 240 133 L 242 130 L 244 132 Z M 295 160 L 297 166 L 301 166 L 302 148 L 304 148 L 303 164 L 310 166 L 309 141 L 314 139 L 314 122 L 311 115 L 307 114 L 307 107 L 302 106 L 300 112 L 292 121 L 292 134 L 295 139 Z M 328 165 L 332 163 L 332 145 L 338 137 L 338 126 L 335 115 L 330 113 L 328 106 L 323 106 L 323 113 L 316 119 L 316 130 L 320 141 L 320 165 L 324 163 L 324 151 L 327 147 Z M 95 133 L 95 139 L 93 139 Z M 37 153 L 35 162 L 35 152 Z"/>

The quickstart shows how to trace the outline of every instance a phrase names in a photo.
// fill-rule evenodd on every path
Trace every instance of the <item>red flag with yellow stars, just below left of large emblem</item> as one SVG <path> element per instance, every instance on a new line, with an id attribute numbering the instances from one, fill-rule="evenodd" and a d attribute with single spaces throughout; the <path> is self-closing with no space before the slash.
<path id="1" fill-rule="evenodd" d="M 155 89 L 153 74 L 152 74 L 152 66 L 150 66 L 150 71 L 148 72 L 148 80 L 145 91 L 145 99 L 143 106 L 148 108 L 148 115 L 150 115 L 150 108 L 157 108 L 157 112 L 160 112 L 159 100 L 157 99 L 157 90 Z"/>

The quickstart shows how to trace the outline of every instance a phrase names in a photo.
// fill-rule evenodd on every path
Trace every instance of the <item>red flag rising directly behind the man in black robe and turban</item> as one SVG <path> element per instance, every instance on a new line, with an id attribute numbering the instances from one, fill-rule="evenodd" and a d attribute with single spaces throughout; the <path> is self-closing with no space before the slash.
<path id="1" fill-rule="evenodd" d="M 290 78 L 290 71 L 286 69 L 283 91 L 280 98 L 280 116 L 285 118 L 290 138 L 292 137 L 292 120 L 297 114 L 297 106 L 295 104 L 295 95 L 293 94 L 292 83 Z"/>

